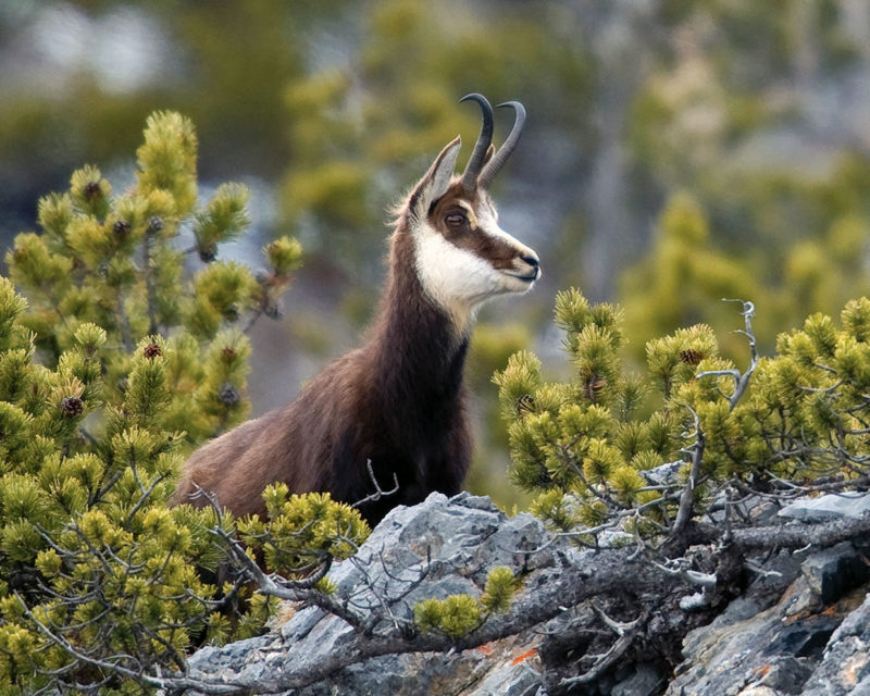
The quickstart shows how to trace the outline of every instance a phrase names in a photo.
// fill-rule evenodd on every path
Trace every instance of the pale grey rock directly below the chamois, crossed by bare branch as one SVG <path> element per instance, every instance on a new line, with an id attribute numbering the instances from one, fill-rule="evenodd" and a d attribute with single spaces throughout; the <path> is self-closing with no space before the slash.
<path id="1" fill-rule="evenodd" d="M 337 564 L 330 579 L 337 596 L 366 611 L 383 610 L 396 620 L 413 617 L 413 606 L 430 597 L 483 592 L 486 575 L 496 566 L 514 573 L 535 573 L 554 563 L 558 547 L 538 520 L 529 514 L 506 517 L 488 498 L 460 494 L 451 499 L 432 494 L 414 507 L 398 507 L 372 532 L 351 559 Z M 542 549 L 545 545 L 547 549 Z M 290 611 L 293 611 L 290 609 Z M 382 611 L 383 612 L 383 611 Z M 383 612 L 386 613 L 386 612 Z M 388 627 L 387 619 L 374 627 Z M 206 648 L 189 660 L 194 678 L 233 676 L 276 679 L 287 666 L 316 667 L 340 654 L 353 630 L 318 608 L 293 613 L 274 633 L 222 648 Z M 293 696 L 327 694 L 448 693 L 462 684 L 468 694 L 531 694 L 540 678 L 534 669 L 537 637 L 514 636 L 486 650 L 455 655 L 389 655 L 340 670 L 330 680 L 295 689 Z M 424 685 L 424 686 L 423 686 Z M 453 687 L 451 687 L 453 688 Z M 531 689 L 531 691 L 530 691 Z M 286 696 L 290 696 L 287 693 Z"/>

